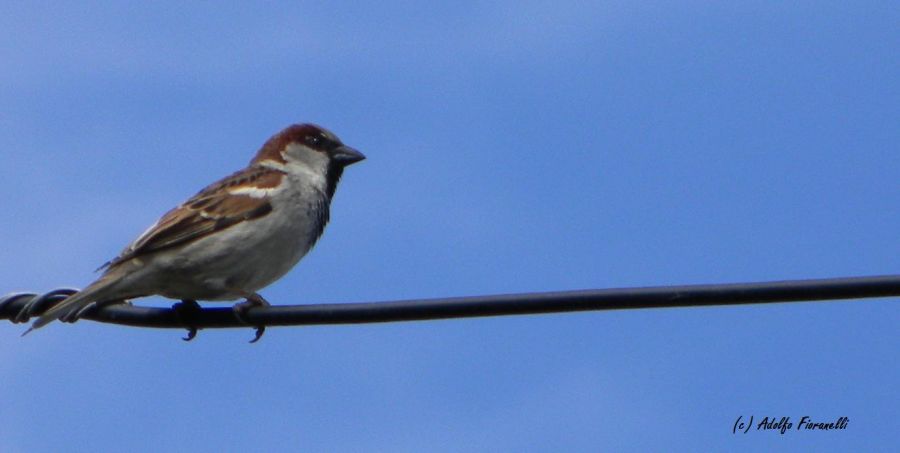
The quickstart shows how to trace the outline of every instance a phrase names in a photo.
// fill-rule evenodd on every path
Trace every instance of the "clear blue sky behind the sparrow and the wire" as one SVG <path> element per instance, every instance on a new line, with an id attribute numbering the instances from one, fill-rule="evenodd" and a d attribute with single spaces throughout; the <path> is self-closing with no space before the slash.
<path id="1" fill-rule="evenodd" d="M 0 293 L 82 287 L 282 127 L 350 167 L 274 303 L 900 273 L 895 2 L 0 5 Z M 168 305 L 162 299 L 142 303 Z M 886 451 L 897 299 L 0 327 L 0 450 Z M 733 435 L 738 416 L 850 418 Z"/>

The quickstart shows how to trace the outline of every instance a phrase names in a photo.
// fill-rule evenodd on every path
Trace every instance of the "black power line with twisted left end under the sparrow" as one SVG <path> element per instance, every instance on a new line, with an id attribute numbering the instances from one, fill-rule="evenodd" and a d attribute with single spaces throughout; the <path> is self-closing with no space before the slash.
<path id="1" fill-rule="evenodd" d="M 0 297 L 0 319 L 27 322 L 76 290 Z M 900 275 L 790 280 L 761 283 L 658 286 L 401 301 L 254 307 L 241 321 L 230 307 L 173 308 L 111 304 L 90 307 L 80 317 L 136 327 L 225 328 L 423 321 L 637 308 L 709 307 L 900 296 Z M 193 337 L 190 334 L 189 337 Z"/>

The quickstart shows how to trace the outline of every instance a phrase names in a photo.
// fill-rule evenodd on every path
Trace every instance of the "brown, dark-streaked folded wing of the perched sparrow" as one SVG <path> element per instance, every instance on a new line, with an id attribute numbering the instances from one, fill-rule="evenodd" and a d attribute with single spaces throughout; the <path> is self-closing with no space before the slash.
<path id="1" fill-rule="evenodd" d="M 114 267 L 131 258 L 184 244 L 268 214 L 272 211 L 272 205 L 267 198 L 231 195 L 225 189 L 251 183 L 259 188 L 275 187 L 280 183 L 282 175 L 278 170 L 251 167 L 209 185 L 181 206 L 163 215 L 156 225 L 107 265 Z"/>

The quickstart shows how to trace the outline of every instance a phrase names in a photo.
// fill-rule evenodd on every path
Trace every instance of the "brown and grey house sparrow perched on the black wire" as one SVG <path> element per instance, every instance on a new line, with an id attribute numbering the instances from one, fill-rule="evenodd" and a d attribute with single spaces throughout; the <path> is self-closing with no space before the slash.
<path id="1" fill-rule="evenodd" d="M 281 278 L 312 248 L 328 222 L 344 167 L 363 159 L 319 126 L 282 130 L 247 168 L 163 215 L 101 266 L 105 272 L 97 281 L 47 310 L 28 332 L 91 303 L 150 295 L 194 306 L 197 300 L 241 298 L 247 302 L 235 307 L 242 310 L 268 305 L 256 291 Z M 263 329 L 258 328 L 257 340 Z"/>

